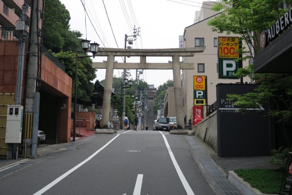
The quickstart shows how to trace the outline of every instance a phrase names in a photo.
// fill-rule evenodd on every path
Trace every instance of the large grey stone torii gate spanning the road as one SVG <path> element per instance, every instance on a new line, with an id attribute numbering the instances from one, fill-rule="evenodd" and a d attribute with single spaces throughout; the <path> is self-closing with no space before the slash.
<path id="1" fill-rule="evenodd" d="M 181 85 L 181 69 L 194 69 L 195 63 L 182 63 L 180 57 L 193 57 L 201 53 L 203 47 L 173 48 L 173 49 L 117 49 L 99 48 L 95 56 L 107 56 L 107 62 L 92 62 L 92 68 L 107 69 L 105 78 L 104 98 L 101 129 L 108 129 L 110 119 L 110 99 L 112 90 L 113 69 L 173 69 L 173 84 L 175 95 L 175 109 L 178 129 L 184 129 L 183 121 L 183 90 Z M 115 57 L 140 56 L 140 63 L 118 63 Z M 172 57 L 172 63 L 147 63 L 146 57 Z"/>

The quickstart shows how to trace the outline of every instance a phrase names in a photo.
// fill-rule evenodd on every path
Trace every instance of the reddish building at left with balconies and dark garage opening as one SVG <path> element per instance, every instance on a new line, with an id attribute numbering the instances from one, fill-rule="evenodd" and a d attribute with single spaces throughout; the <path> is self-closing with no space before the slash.
<path id="1" fill-rule="evenodd" d="M 30 65 L 26 65 L 28 39 L 25 41 L 24 54 L 19 53 L 18 31 L 16 23 L 20 19 L 23 0 L 0 0 L 0 95 L 11 94 L 1 99 L 0 113 L 6 113 L 5 104 L 15 104 L 18 59 L 24 55 L 23 59 L 23 80 L 21 91 L 21 103 L 23 107 L 25 101 L 26 70 Z M 41 1 L 40 1 L 41 2 Z M 41 3 L 42 4 L 42 3 Z M 41 8 L 41 7 L 40 7 Z M 31 8 L 26 11 L 25 25 L 27 30 L 30 22 Z M 41 20 L 39 20 L 41 26 Z M 26 26 L 25 26 L 26 28 Z M 28 36 L 28 34 L 27 34 Z M 39 80 L 39 118 L 38 128 L 45 132 L 46 143 L 60 143 L 70 141 L 71 132 L 71 99 L 72 99 L 72 78 L 65 73 L 65 66 L 50 54 L 45 48 L 39 52 L 39 67 L 37 79 Z M 9 103 L 3 103 L 3 101 Z M 32 115 L 25 113 L 23 117 L 24 126 L 22 128 L 22 139 L 32 138 Z M 0 155 L 6 155 L 5 149 L 5 127 L 6 115 L 0 116 Z M 4 139 L 3 139 L 4 137 Z M 27 153 L 27 155 L 29 155 Z"/>

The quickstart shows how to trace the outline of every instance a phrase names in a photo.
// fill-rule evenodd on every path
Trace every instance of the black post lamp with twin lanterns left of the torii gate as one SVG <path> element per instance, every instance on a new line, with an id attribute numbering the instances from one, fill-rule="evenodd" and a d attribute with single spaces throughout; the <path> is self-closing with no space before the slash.
<path id="1" fill-rule="evenodd" d="M 73 141 L 75 141 L 75 137 L 76 137 L 76 104 L 77 104 L 77 62 L 78 62 L 78 58 L 82 59 L 82 58 L 90 58 L 95 56 L 95 54 L 98 51 L 98 43 L 90 43 L 90 40 L 87 39 L 83 39 L 81 40 L 82 43 L 82 49 L 84 50 L 84 54 L 87 53 L 87 51 L 89 50 L 89 47 L 91 48 L 91 53 L 92 56 L 80 56 L 78 57 L 78 46 L 76 46 L 76 53 L 75 53 L 75 83 L 74 83 L 74 107 L 73 107 Z"/>

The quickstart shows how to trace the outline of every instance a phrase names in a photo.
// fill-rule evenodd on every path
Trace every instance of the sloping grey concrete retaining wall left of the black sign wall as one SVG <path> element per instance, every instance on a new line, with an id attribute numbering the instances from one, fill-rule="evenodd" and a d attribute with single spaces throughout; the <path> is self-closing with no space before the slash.
<path id="1" fill-rule="evenodd" d="M 217 153 L 217 112 L 215 111 L 203 119 L 193 129 L 196 136 L 200 137 Z"/>

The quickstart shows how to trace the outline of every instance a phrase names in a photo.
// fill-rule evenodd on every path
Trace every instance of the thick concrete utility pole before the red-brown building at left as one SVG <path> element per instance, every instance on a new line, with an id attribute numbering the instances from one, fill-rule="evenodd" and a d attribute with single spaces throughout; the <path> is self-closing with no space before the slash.
<path id="1" fill-rule="evenodd" d="M 26 97 L 25 97 L 25 116 L 33 117 L 33 124 L 26 124 L 27 127 L 31 126 L 32 129 L 32 158 L 37 156 L 37 130 L 38 130 L 38 111 L 39 111 L 39 77 L 38 69 L 38 50 L 39 50 L 39 17 L 40 17 L 40 0 L 32 0 L 31 9 L 31 31 L 30 31 L 30 52 L 27 70 L 26 81 Z M 28 131 L 28 129 L 25 129 Z"/>

